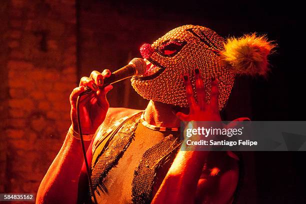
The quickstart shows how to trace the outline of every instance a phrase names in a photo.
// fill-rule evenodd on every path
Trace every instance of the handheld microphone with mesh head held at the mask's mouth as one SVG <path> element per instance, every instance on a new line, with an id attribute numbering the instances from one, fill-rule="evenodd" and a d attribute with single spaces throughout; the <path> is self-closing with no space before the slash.
<path id="1" fill-rule="evenodd" d="M 113 84 L 125 78 L 134 76 L 134 75 L 142 75 L 146 69 L 146 63 L 142 58 L 133 58 L 130 62 L 123 66 L 122 68 L 112 72 L 109 77 L 104 78 L 103 86 Z M 92 90 L 86 86 L 85 91 L 80 95 L 85 95 L 91 93 Z"/>

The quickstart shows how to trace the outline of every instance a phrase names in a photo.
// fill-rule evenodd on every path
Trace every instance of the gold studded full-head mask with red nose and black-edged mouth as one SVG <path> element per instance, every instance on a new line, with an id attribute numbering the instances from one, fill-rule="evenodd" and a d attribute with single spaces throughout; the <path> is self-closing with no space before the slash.
<path id="1" fill-rule="evenodd" d="M 228 99 L 234 82 L 234 73 L 220 64 L 224 39 L 213 30 L 198 25 L 174 28 L 152 45 L 143 44 L 141 55 L 147 68 L 143 75 L 133 76 L 133 88 L 146 99 L 188 107 L 182 74 L 188 74 L 194 96 L 194 68 L 200 70 L 209 102 L 211 78 L 218 79 L 219 109 Z M 196 98 L 197 99 L 197 98 Z"/>

